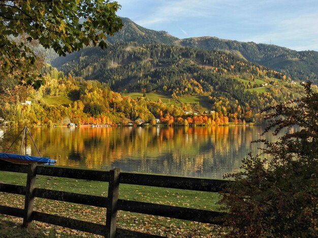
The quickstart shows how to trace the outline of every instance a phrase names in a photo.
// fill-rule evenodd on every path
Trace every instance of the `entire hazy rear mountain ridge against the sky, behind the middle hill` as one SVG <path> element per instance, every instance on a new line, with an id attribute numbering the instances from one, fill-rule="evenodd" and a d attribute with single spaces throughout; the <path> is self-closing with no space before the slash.
<path id="1" fill-rule="evenodd" d="M 116 32 L 113 37 L 108 38 L 110 44 L 122 42 L 163 43 L 195 49 L 225 50 L 248 61 L 282 72 L 294 80 L 310 80 L 318 83 L 318 52 L 316 51 L 295 51 L 276 45 L 222 40 L 216 37 L 178 39 L 166 31 L 144 28 L 129 18 L 122 18 L 122 22 L 123 28 Z"/>

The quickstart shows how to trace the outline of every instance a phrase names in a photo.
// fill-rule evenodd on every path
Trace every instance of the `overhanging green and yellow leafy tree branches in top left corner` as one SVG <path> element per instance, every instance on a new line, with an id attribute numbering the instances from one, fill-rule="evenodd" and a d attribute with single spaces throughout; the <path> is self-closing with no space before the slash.
<path id="1" fill-rule="evenodd" d="M 13 77 L 23 85 L 42 85 L 28 42 L 59 55 L 88 45 L 107 47 L 106 35 L 122 27 L 119 7 L 109 0 L 0 0 L 0 82 Z M 22 35 L 25 41 L 17 41 Z"/>

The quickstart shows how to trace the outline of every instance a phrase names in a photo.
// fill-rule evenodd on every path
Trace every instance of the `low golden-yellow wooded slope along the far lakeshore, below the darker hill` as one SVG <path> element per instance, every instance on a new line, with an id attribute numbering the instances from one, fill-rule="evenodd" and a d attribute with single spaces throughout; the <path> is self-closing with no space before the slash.
<path id="1" fill-rule="evenodd" d="M 65 77 L 49 65 L 42 71 L 45 85 L 38 91 L 20 86 L 15 94 L 0 95 L 0 116 L 3 119 L 0 125 L 53 126 L 72 122 L 105 126 L 140 124 L 140 121 L 151 125 L 214 125 L 229 122 L 229 117 L 221 112 L 203 114 L 203 110 L 210 108 L 208 103 L 205 109 L 192 104 L 192 101 L 204 103 L 200 97 L 178 101 L 161 93 L 120 95 L 96 80 L 74 79 L 70 74 Z M 28 100 L 27 104 L 25 100 Z M 239 122 L 238 116 L 245 120 L 244 112 L 232 115 L 231 120 Z M 247 116 L 246 120 L 251 121 L 250 115 Z"/>

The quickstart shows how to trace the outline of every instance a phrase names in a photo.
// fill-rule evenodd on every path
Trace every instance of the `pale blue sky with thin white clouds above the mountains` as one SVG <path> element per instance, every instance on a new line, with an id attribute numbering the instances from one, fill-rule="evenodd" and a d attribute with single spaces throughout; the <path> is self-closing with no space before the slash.
<path id="1" fill-rule="evenodd" d="M 117 15 L 179 39 L 209 36 L 318 51 L 318 0 L 117 2 Z"/>

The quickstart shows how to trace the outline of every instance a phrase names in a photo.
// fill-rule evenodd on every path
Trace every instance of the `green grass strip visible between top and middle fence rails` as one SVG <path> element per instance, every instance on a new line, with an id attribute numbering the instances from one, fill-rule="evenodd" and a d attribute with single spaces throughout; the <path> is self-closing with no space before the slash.
<path id="1" fill-rule="evenodd" d="M 26 174 L 2 172 L 0 174 L 0 182 L 25 186 Z M 58 191 L 107 196 L 108 183 L 49 176 L 37 176 L 36 187 L 54 189 Z M 180 207 L 195 207 L 208 210 L 219 209 L 215 204 L 219 196 L 216 193 L 210 192 L 120 184 L 119 196 L 122 199 L 148 201 L 154 203 L 169 203 Z M 190 202 L 190 204 L 187 204 L 186 202 Z"/>

